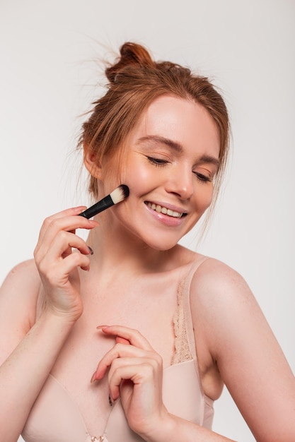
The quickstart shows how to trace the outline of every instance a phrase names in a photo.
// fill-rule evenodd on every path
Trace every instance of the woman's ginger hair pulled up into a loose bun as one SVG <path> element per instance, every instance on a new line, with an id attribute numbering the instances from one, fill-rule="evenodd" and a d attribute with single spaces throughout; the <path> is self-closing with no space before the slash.
<path id="1" fill-rule="evenodd" d="M 83 145 L 101 164 L 103 158 L 120 155 L 129 132 L 157 97 L 193 100 L 207 109 L 219 132 L 220 167 L 214 180 L 213 206 L 229 153 L 229 115 L 209 78 L 170 61 L 154 61 L 145 47 L 134 42 L 122 44 L 115 63 L 105 66 L 105 76 L 107 92 L 93 102 L 91 115 L 82 126 L 79 147 Z M 98 197 L 97 180 L 92 176 L 89 191 Z"/>

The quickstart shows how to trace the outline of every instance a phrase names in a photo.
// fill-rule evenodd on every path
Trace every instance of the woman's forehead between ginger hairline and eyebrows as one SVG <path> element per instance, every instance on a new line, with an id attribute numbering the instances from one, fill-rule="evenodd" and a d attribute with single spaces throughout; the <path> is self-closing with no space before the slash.
<path id="1" fill-rule="evenodd" d="M 184 148 L 219 157 L 219 132 L 214 119 L 199 103 L 163 95 L 149 104 L 132 131 L 135 143 L 146 136 L 169 138 Z M 203 152 L 202 152 L 203 153 Z"/>

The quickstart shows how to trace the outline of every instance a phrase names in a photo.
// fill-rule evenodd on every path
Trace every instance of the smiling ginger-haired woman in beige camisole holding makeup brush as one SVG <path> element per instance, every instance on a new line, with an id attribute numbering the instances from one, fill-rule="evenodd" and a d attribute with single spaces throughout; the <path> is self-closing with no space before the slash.
<path id="1" fill-rule="evenodd" d="M 211 429 L 224 383 L 257 441 L 294 441 L 294 375 L 253 294 L 178 244 L 218 193 L 224 100 L 139 44 L 105 73 L 79 145 L 96 200 L 130 193 L 48 217 L 4 281 L 1 441 L 229 441 Z"/>

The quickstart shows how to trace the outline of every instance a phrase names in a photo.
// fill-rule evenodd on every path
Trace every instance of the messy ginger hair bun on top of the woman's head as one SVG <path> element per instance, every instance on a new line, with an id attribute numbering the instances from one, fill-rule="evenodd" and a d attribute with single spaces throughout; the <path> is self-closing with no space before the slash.
<path id="1" fill-rule="evenodd" d="M 117 74 L 120 74 L 128 66 L 154 66 L 149 52 L 141 44 L 126 42 L 120 47 L 120 58 L 112 66 L 105 69 L 105 75 L 110 83 L 115 83 Z"/>

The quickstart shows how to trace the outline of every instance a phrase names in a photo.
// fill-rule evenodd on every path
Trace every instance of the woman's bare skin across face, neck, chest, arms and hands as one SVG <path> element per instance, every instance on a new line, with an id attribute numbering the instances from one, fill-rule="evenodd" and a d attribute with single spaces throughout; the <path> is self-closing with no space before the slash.
<path id="1" fill-rule="evenodd" d="M 48 374 L 91 435 L 105 431 L 110 394 L 120 395 L 130 428 L 145 441 L 230 441 L 170 414 L 162 398 L 163 367 L 175 352 L 175 294 L 202 259 L 178 241 L 212 201 L 218 157 L 209 114 L 168 96 L 146 109 L 119 168 L 86 155 L 101 196 L 119 184 L 130 195 L 97 215 L 99 223 L 77 216 L 84 207 L 47 217 L 35 261 L 18 265 L 1 287 L 1 441 L 17 440 Z M 185 215 L 169 217 L 146 202 Z M 87 241 L 77 229 L 88 229 Z M 190 283 L 202 390 L 215 400 L 226 383 L 255 440 L 294 442 L 295 379 L 284 354 L 241 275 L 203 258 Z M 40 294 L 46 306 L 36 318 Z"/>

